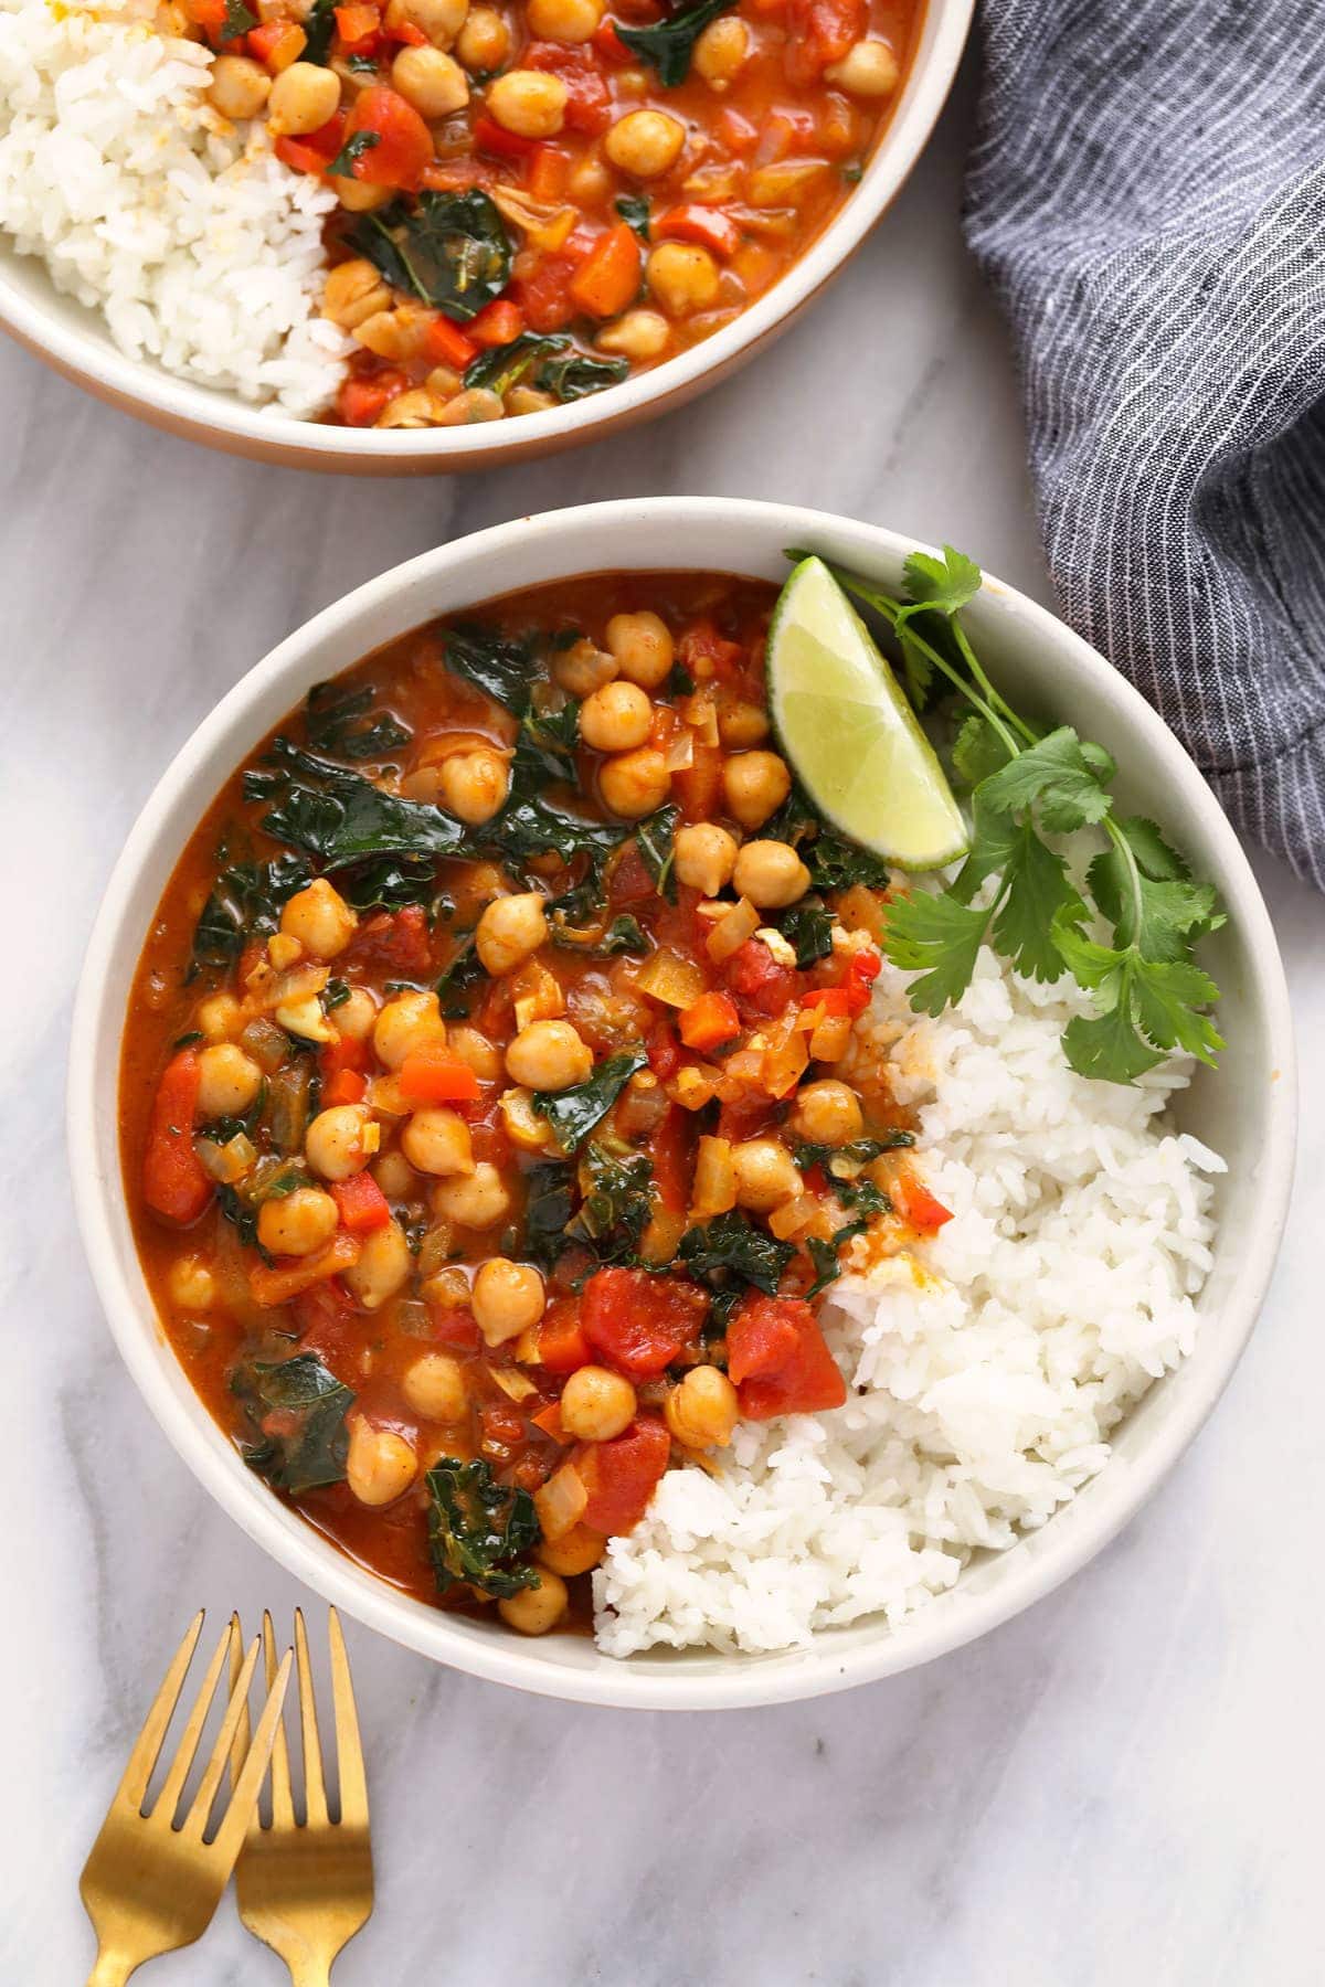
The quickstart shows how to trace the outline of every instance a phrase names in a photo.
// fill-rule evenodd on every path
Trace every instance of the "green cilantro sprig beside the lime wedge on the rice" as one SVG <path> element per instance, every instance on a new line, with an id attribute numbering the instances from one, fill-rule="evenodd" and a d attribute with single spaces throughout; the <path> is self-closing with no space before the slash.
<path id="1" fill-rule="evenodd" d="M 959 999 L 989 944 L 1031 980 L 1067 972 L 1091 994 L 1095 1013 L 1063 1033 L 1079 1075 L 1134 1083 L 1174 1049 L 1214 1067 L 1224 1039 L 1208 1009 L 1220 990 L 1194 952 L 1226 922 L 1216 892 L 1152 821 L 1116 811 L 1116 767 L 1103 745 L 1071 725 L 1037 729 L 989 680 L 961 624 L 983 584 L 979 566 L 952 546 L 942 558 L 912 552 L 906 600 L 832 572 L 892 628 L 918 709 L 944 691 L 967 705 L 952 763 L 971 797 L 969 854 L 946 890 L 888 906 L 884 950 L 918 974 L 912 1007 L 938 1015 Z M 1053 839 L 1081 829 L 1104 846 L 1079 886 Z"/>

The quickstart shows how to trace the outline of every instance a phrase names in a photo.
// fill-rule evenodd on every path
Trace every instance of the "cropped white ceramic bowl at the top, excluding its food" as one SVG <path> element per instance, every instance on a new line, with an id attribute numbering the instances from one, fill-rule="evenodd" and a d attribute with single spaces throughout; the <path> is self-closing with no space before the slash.
<path id="1" fill-rule="evenodd" d="M 290 469 L 348 475 L 427 475 L 497 469 L 574 447 L 713 385 L 777 338 L 866 238 L 890 205 L 944 107 L 965 46 L 975 0 L 928 0 L 920 42 L 902 97 L 852 197 L 799 262 L 733 324 L 689 352 L 622 385 L 546 413 L 524 413 L 481 427 L 358 429 L 264 413 L 234 393 L 195 385 L 155 362 L 131 360 L 111 342 L 101 318 L 62 296 L 44 264 L 14 254 L 0 238 L 0 330 L 87 391 L 175 435 L 189 435 L 228 455 L 248 455 Z"/>

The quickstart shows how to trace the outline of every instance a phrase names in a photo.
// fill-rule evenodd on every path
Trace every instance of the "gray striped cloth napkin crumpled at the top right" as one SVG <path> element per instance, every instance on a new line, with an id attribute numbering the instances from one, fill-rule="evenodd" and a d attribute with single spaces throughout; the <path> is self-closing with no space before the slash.
<path id="1" fill-rule="evenodd" d="M 1067 620 L 1325 888 L 1325 0 L 983 0 L 967 240 Z"/>

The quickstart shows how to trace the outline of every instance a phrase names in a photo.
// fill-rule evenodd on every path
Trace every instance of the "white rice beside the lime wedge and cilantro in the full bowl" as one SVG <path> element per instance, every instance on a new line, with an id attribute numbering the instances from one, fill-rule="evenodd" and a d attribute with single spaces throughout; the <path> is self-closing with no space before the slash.
<path id="1" fill-rule="evenodd" d="M 1164 1125 L 1190 1065 L 1126 1087 L 1073 1075 L 1061 1035 L 1085 995 L 989 952 L 938 1021 L 904 990 L 884 966 L 862 1027 L 920 1111 L 922 1168 L 954 1220 L 834 1284 L 822 1323 L 854 1389 L 842 1409 L 743 1423 L 719 1478 L 669 1470 L 612 1542 L 594 1574 L 612 1655 L 900 1623 L 973 1550 L 1045 1524 L 1192 1351 L 1224 1162 Z"/>

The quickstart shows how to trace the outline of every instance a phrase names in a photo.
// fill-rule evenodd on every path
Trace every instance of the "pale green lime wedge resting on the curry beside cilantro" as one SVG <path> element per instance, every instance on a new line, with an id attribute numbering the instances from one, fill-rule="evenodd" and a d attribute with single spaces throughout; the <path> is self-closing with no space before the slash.
<path id="1" fill-rule="evenodd" d="M 934 747 L 822 558 L 803 558 L 769 628 L 769 705 L 814 807 L 898 868 L 967 850 Z"/>

